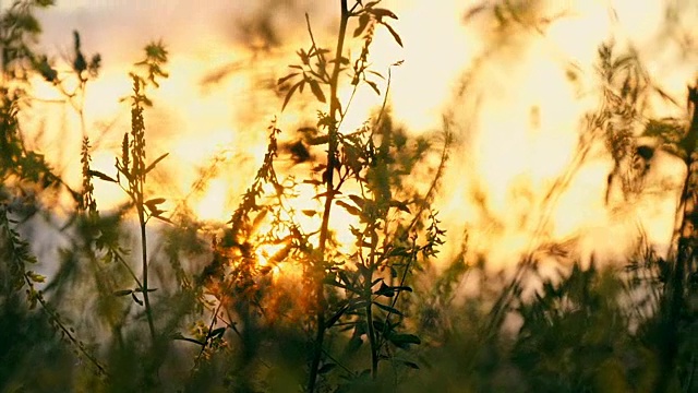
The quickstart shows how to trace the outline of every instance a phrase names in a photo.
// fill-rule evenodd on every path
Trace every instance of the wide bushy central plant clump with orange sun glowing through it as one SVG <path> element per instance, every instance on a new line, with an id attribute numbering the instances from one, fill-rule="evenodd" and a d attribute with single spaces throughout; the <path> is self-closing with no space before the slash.
<path id="1" fill-rule="evenodd" d="M 205 334 L 182 338 L 202 346 L 197 359 L 208 359 L 208 352 L 220 346 L 225 332 L 232 331 L 240 340 L 226 347 L 239 343 L 236 361 L 239 366 L 230 376 L 236 389 L 250 390 L 258 383 L 244 376 L 255 372 L 254 365 L 263 356 L 260 348 L 274 337 L 275 330 L 286 325 L 285 320 L 302 322 L 304 334 L 312 333 L 312 352 L 291 360 L 308 358 L 308 391 L 318 391 L 321 384 L 349 389 L 375 383 L 381 360 L 393 367 L 418 368 L 404 355 L 405 349 L 421 341 L 402 331 L 406 311 L 401 305 L 407 302 L 401 299 L 404 293 L 412 291 L 410 273 L 437 252 L 444 231 L 430 210 L 436 180 L 420 192 L 404 179 L 430 154 L 430 143 L 421 140 L 410 146 L 405 133 L 392 123 L 385 104 L 376 119 L 366 121 L 359 130 L 339 131 L 350 110 L 350 102 L 340 103 L 337 96 L 342 74 L 349 74 L 354 92 L 365 83 L 380 93 L 378 85 L 369 79 L 384 79 L 369 69 L 375 26 L 385 26 L 401 45 L 400 37 L 387 24 L 388 19 L 397 16 L 377 4 L 356 2 L 349 7 L 341 1 L 334 58 L 328 58 L 330 51 L 317 45 L 306 17 L 311 47 L 298 51 L 301 63 L 291 66 L 293 71 L 278 83 L 289 86 L 282 107 L 304 86 L 310 87 L 318 103 L 328 105 L 327 112 L 318 111 L 315 127 L 301 130 L 302 138 L 296 142 L 300 146 L 291 152 L 298 155 L 302 147 L 310 158 L 309 150 L 324 145 L 325 158 L 315 162 L 309 176 L 300 181 L 296 177 L 279 178 L 275 160 L 279 155 L 280 130 L 272 124 L 264 163 L 232 215 L 230 228 L 221 238 L 214 239 L 214 259 L 198 278 L 216 297 L 217 305 L 212 307 L 213 318 L 203 330 Z M 358 20 L 354 37 L 363 43 L 357 59 L 345 57 L 344 49 L 349 21 L 353 19 Z M 387 90 L 389 70 L 386 82 Z M 445 142 L 434 174 L 436 179 L 447 158 L 448 135 Z M 322 206 L 297 211 L 293 205 L 301 187 L 312 188 L 313 199 Z M 356 217 L 358 225 L 330 225 L 333 207 Z M 299 215 L 316 217 L 318 228 L 308 229 L 298 222 Z M 337 230 L 351 231 L 354 243 L 346 246 L 351 246 L 352 251 L 342 250 L 334 235 Z M 288 295 L 275 290 L 282 285 L 279 283 L 284 282 L 284 272 L 293 269 L 301 272 L 302 287 L 294 291 L 300 297 L 299 305 L 289 308 L 282 300 Z M 281 272 L 278 281 L 274 278 L 277 270 Z M 278 320 L 279 314 L 285 318 Z M 301 315 L 300 320 L 294 314 Z M 300 340 L 304 334 L 291 336 Z M 354 367 L 361 368 L 359 349 L 364 335 L 369 366 L 354 371 Z M 344 342 L 346 348 L 337 352 L 336 342 Z M 341 379 L 333 377 L 333 370 L 341 370 Z"/>

